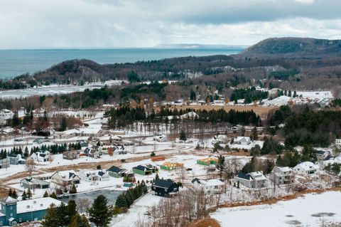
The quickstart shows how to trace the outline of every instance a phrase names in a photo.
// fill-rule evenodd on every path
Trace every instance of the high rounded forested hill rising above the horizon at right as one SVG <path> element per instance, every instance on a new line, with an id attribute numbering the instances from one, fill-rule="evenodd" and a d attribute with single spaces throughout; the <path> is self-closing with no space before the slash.
<path id="1" fill-rule="evenodd" d="M 341 56 L 341 40 L 318 38 L 267 38 L 243 51 L 241 56 Z"/>

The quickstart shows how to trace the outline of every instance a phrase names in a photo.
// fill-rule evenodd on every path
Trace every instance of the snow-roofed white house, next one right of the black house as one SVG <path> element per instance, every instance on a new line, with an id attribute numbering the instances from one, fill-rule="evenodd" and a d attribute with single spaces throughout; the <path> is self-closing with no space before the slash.
<path id="1" fill-rule="evenodd" d="M 219 179 L 193 179 L 192 184 L 195 189 L 202 190 L 205 194 L 220 194 L 225 191 L 224 182 Z"/>

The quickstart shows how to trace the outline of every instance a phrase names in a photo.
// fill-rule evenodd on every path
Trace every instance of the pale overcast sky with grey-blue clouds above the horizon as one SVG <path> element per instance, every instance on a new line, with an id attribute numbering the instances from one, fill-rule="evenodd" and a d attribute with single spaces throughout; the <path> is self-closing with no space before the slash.
<path id="1" fill-rule="evenodd" d="M 340 39 L 340 0 L 0 0 L 0 48 Z"/>

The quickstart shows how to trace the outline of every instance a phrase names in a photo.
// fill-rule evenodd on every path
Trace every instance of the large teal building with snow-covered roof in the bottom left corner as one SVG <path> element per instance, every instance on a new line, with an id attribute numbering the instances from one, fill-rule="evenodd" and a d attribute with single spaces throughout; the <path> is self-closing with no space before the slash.
<path id="1" fill-rule="evenodd" d="M 18 223 L 40 221 L 51 204 L 60 206 L 61 201 L 51 197 L 18 201 L 11 197 L 0 200 L 0 226 L 17 226 Z"/>

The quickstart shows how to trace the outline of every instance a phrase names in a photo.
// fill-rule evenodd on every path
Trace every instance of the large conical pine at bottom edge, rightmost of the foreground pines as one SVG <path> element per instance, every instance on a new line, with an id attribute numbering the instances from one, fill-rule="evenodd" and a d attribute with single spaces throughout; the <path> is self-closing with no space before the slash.
<path id="1" fill-rule="evenodd" d="M 107 198 L 99 195 L 89 209 L 89 220 L 97 227 L 107 227 L 113 216 L 111 209 L 112 207 L 108 206 Z"/>

